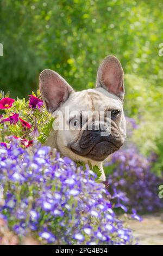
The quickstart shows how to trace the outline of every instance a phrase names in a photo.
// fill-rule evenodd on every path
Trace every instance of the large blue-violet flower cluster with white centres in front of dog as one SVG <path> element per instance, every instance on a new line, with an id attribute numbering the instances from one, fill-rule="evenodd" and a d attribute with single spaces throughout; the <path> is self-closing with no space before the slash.
<path id="1" fill-rule="evenodd" d="M 55 245 L 126 245 L 110 194 L 92 171 L 38 144 L 0 147 L 0 213 L 20 237 Z"/>

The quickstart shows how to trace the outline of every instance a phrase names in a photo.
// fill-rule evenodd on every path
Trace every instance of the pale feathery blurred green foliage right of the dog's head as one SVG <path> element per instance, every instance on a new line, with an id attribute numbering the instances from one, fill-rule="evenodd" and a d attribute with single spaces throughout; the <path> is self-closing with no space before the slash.
<path id="1" fill-rule="evenodd" d="M 126 100 L 124 109 L 127 116 L 135 118 L 138 128 L 131 140 L 147 155 L 151 151 L 162 154 L 163 145 L 163 87 L 154 81 L 126 75 Z M 133 100 L 134 98 L 134 100 Z"/>

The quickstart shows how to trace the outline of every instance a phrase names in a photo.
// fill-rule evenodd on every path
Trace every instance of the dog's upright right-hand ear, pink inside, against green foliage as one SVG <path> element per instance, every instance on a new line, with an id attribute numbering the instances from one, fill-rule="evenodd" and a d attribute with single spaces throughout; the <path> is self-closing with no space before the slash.
<path id="1" fill-rule="evenodd" d="M 123 69 L 115 56 L 107 56 L 98 68 L 96 87 L 103 87 L 123 100 Z"/>

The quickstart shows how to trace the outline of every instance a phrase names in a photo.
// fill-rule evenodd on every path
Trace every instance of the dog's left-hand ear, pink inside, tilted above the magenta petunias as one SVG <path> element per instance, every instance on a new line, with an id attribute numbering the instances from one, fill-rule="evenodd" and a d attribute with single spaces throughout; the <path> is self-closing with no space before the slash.
<path id="1" fill-rule="evenodd" d="M 51 69 L 45 69 L 41 72 L 39 88 L 49 112 L 57 110 L 73 91 L 65 79 Z"/>

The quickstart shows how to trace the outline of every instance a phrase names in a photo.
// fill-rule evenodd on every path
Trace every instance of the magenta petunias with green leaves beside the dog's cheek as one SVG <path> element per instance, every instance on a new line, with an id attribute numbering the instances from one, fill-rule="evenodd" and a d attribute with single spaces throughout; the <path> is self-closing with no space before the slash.
<path id="1" fill-rule="evenodd" d="M 0 92 L 0 98 L 4 95 Z M 43 100 L 33 93 L 29 100 L 14 100 L 4 97 L 0 100 L 0 141 L 9 142 L 14 136 L 24 147 L 32 145 L 33 139 L 45 142 L 52 128 L 54 118 L 43 108 Z"/>

